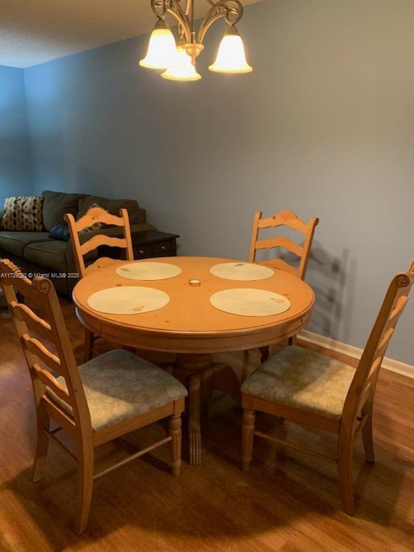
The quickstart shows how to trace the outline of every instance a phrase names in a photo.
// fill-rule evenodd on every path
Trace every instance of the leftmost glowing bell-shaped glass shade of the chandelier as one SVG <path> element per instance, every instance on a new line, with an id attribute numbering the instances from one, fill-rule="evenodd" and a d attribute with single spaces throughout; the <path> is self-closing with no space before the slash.
<path id="1" fill-rule="evenodd" d="M 175 60 L 174 35 L 167 23 L 163 19 L 159 19 L 151 33 L 147 55 L 139 61 L 139 65 L 150 69 L 166 69 L 173 66 Z"/>

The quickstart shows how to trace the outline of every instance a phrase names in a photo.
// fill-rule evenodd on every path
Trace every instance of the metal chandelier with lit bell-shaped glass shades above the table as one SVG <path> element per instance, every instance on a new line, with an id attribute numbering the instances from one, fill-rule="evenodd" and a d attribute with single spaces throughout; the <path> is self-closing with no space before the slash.
<path id="1" fill-rule="evenodd" d="M 161 77 L 172 81 L 199 81 L 201 75 L 195 68 L 195 60 L 204 50 L 204 37 L 210 26 L 224 17 L 228 28 L 221 39 L 217 57 L 210 71 L 219 73 L 248 73 L 253 68 L 246 61 L 242 37 L 236 23 L 242 19 L 243 6 L 239 0 L 206 0 L 210 4 L 201 21 L 198 32 L 194 28 L 195 0 L 150 0 L 157 23 L 152 30 L 146 57 L 139 61 L 141 67 L 164 70 Z M 176 43 L 166 23 L 167 14 L 178 23 Z"/>

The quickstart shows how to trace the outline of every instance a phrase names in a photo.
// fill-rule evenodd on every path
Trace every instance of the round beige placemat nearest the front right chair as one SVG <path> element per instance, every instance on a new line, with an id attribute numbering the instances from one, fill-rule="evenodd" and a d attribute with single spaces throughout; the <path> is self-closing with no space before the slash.
<path id="1" fill-rule="evenodd" d="M 264 289 L 235 288 L 217 291 L 210 303 L 219 311 L 241 316 L 271 316 L 288 311 L 290 301 Z"/>

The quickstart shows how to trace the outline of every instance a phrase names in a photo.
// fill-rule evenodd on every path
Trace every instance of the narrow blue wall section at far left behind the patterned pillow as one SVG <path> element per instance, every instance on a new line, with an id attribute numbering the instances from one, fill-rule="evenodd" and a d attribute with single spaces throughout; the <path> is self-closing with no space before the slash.
<path id="1" fill-rule="evenodd" d="M 0 66 L 0 209 L 32 193 L 23 70 Z"/>

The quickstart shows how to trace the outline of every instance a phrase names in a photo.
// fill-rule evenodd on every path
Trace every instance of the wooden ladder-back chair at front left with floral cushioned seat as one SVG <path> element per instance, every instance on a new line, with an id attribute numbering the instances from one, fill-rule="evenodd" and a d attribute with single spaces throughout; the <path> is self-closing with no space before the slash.
<path id="1" fill-rule="evenodd" d="M 33 481 L 43 475 L 49 440 L 77 462 L 75 532 L 80 534 L 86 529 L 92 483 L 98 477 L 167 442 L 171 444 L 172 474 L 179 475 L 181 413 L 187 391 L 161 368 L 122 349 L 78 368 L 52 282 L 40 277 L 30 282 L 7 259 L 0 260 L 0 275 L 32 378 L 37 413 Z M 25 297 L 25 304 L 17 301 L 14 288 Z M 168 437 L 94 475 L 96 446 L 165 417 Z M 55 428 L 50 428 L 50 420 L 57 424 Z M 63 430 L 75 440 L 76 456 L 56 436 Z"/>

